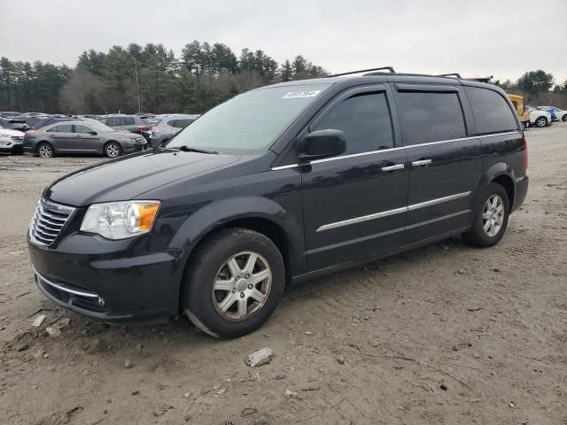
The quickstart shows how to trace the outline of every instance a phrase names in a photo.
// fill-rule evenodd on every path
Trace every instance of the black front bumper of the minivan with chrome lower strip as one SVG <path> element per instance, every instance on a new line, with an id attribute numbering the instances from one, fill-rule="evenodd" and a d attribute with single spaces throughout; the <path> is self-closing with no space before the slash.
<path id="1" fill-rule="evenodd" d="M 124 241 L 65 239 L 57 249 L 27 241 L 35 282 L 47 298 L 101 321 L 163 323 L 178 313 L 182 271 L 174 255 L 131 257 L 121 250 Z M 109 251 L 113 243 L 118 250 Z"/>

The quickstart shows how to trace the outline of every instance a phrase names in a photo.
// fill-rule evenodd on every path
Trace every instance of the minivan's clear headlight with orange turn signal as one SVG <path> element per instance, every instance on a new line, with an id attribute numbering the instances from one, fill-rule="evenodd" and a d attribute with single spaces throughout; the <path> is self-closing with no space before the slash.
<path id="1" fill-rule="evenodd" d="M 93 204 L 82 219 L 83 232 L 97 233 L 108 239 L 148 233 L 159 210 L 159 201 L 126 201 Z"/>

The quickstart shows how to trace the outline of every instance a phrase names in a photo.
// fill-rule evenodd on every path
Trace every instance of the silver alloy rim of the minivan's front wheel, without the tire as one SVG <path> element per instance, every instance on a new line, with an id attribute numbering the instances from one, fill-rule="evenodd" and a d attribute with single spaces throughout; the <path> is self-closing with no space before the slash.
<path id="1" fill-rule="evenodd" d="M 214 308 L 228 321 L 245 321 L 268 300 L 272 270 L 259 253 L 243 251 L 227 260 L 213 282 Z"/>

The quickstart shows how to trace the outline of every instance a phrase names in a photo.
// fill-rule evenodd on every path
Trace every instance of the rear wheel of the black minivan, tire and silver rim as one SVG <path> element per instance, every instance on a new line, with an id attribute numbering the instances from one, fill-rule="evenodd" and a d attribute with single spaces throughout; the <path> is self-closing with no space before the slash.
<path id="1" fill-rule="evenodd" d="M 499 211 L 501 213 L 497 213 Z M 498 183 L 490 183 L 480 198 L 472 227 L 464 235 L 465 239 L 473 245 L 483 247 L 499 243 L 508 227 L 509 211 L 506 190 Z M 488 221 L 493 224 L 488 224 Z"/>

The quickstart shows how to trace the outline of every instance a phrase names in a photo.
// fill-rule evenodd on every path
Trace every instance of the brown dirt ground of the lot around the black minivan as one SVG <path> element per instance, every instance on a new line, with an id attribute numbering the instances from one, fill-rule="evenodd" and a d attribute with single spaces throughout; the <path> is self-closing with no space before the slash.
<path id="1" fill-rule="evenodd" d="M 567 125 L 526 136 L 531 186 L 499 245 L 457 238 L 292 287 L 230 341 L 184 318 L 109 326 L 40 295 L 35 203 L 101 158 L 0 157 L 0 422 L 567 424 Z M 246 366 L 262 347 L 274 359 Z"/>

